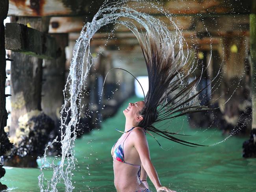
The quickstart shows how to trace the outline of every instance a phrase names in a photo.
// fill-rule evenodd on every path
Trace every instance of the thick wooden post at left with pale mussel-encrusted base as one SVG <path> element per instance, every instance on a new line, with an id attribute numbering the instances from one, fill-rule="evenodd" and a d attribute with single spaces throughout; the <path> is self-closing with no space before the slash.
<path id="1" fill-rule="evenodd" d="M 41 111 L 43 70 L 43 59 L 41 58 L 43 56 L 40 54 L 48 49 L 52 49 L 53 52 L 56 50 L 54 47 L 44 44 L 48 37 L 44 36 L 48 31 L 48 18 L 14 17 L 11 20 L 33 28 L 33 30 L 25 28 L 24 31 L 28 31 L 28 33 L 26 33 L 24 41 L 31 43 L 27 44 L 31 48 L 31 52 L 34 52 L 33 55 L 36 54 L 37 57 L 29 55 L 31 52 L 26 52 L 26 49 L 21 50 L 22 53 L 11 52 L 11 59 L 13 59 L 11 63 L 12 111 L 9 138 L 14 143 L 14 148 L 11 155 L 5 159 L 5 163 L 8 166 L 37 167 L 37 156 L 43 154 L 49 133 L 54 128 L 53 120 Z M 30 31 L 33 33 L 29 33 Z M 12 37 L 9 33 L 8 39 L 6 38 L 6 46 L 13 45 L 11 44 L 12 38 L 16 37 Z M 15 50 L 15 47 L 11 50 Z M 39 58 L 40 56 L 42 57 Z"/>

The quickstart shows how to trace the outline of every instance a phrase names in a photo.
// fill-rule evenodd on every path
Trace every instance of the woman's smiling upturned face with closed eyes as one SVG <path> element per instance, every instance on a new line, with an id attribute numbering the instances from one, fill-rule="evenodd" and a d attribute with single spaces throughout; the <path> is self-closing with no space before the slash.
<path id="1" fill-rule="evenodd" d="M 135 103 L 129 103 L 128 107 L 124 109 L 124 116 L 127 118 L 136 118 L 139 116 L 139 112 L 144 108 L 144 101 L 138 101 Z"/>

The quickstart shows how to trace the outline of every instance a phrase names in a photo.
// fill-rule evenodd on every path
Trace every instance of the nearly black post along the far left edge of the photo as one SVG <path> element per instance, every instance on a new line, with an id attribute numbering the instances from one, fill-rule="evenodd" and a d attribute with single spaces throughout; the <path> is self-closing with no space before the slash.
<path id="1" fill-rule="evenodd" d="M 6 50 L 4 46 L 4 19 L 7 17 L 9 8 L 9 0 L 0 1 L 0 156 L 10 150 L 12 145 L 9 143 L 4 127 L 7 121 L 6 111 Z M 0 178 L 4 176 L 5 169 L 0 165 Z M 6 190 L 7 186 L 0 182 L 0 190 Z"/>

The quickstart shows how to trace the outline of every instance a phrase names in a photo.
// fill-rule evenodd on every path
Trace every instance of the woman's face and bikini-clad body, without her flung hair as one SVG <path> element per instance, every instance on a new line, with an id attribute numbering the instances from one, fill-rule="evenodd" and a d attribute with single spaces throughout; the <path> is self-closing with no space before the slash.
<path id="1" fill-rule="evenodd" d="M 156 170 L 150 161 L 146 130 L 138 127 L 143 120 L 140 115 L 144 101 L 129 103 L 123 113 L 126 117 L 123 135 L 111 150 L 115 187 L 118 192 L 141 192 L 148 190 L 147 175 L 156 191 L 176 192 L 161 186 Z"/>

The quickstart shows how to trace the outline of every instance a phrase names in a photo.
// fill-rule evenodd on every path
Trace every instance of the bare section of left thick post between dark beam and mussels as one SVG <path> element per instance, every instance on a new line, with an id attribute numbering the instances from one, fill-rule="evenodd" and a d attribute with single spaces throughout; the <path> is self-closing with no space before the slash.
<path id="1" fill-rule="evenodd" d="M 43 60 L 19 52 L 12 52 L 11 58 L 11 126 L 9 136 L 13 137 L 19 126 L 20 116 L 32 111 L 41 111 L 41 84 Z"/>

